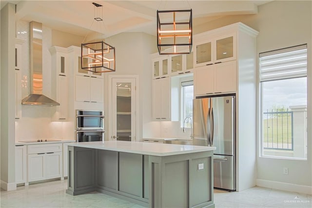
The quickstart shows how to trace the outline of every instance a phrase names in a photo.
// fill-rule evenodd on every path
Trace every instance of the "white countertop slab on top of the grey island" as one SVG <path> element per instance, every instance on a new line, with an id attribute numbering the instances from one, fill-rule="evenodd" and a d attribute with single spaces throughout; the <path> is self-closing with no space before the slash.
<path id="1" fill-rule="evenodd" d="M 79 142 L 70 144 L 69 146 L 87 147 L 154 156 L 178 155 L 194 152 L 213 151 L 216 149 L 215 147 L 211 146 L 172 145 L 126 141 Z"/>

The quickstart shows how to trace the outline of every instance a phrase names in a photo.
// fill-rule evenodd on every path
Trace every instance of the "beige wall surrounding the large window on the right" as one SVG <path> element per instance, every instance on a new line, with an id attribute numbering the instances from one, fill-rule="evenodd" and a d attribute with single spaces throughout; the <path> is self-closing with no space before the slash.
<path id="1" fill-rule="evenodd" d="M 258 18 L 258 53 L 308 43 L 308 126 L 312 126 L 312 2 L 273 1 L 259 7 Z M 307 160 L 263 158 L 258 153 L 257 184 L 312 194 L 311 138 L 308 128 Z M 289 168 L 289 175 L 283 174 L 283 167 Z"/>

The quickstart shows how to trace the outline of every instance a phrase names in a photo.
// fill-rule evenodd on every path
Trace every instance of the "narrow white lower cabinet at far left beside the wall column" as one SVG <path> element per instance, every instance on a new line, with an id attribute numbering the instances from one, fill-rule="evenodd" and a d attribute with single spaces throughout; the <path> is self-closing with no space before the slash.
<path id="1" fill-rule="evenodd" d="M 15 146 L 15 182 L 26 182 L 26 146 Z"/>

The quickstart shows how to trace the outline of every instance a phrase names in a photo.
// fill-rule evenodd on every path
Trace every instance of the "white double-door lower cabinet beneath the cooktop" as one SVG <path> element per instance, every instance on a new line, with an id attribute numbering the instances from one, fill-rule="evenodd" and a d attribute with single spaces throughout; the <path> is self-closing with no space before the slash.
<path id="1" fill-rule="evenodd" d="M 62 144 L 28 145 L 28 182 L 62 177 Z"/>

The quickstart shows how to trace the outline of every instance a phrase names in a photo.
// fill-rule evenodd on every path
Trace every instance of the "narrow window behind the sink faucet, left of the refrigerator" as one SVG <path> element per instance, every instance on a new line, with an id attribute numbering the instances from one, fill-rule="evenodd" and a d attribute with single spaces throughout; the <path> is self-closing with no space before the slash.
<path id="1" fill-rule="evenodd" d="M 193 98 L 194 84 L 193 81 L 181 82 L 181 127 L 183 127 L 184 119 L 189 117 L 193 120 Z M 191 120 L 185 121 L 185 127 L 191 127 Z"/>

